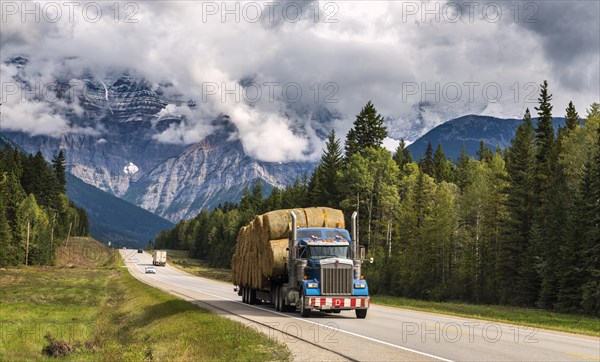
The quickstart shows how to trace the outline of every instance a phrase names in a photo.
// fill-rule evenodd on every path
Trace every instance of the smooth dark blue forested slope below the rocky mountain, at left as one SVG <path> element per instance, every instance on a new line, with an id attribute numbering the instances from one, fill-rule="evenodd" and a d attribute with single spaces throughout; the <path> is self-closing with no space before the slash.
<path id="1" fill-rule="evenodd" d="M 116 246 L 141 247 L 173 224 L 116 196 L 67 174 L 67 195 L 83 207 L 89 218 L 90 234 Z"/>

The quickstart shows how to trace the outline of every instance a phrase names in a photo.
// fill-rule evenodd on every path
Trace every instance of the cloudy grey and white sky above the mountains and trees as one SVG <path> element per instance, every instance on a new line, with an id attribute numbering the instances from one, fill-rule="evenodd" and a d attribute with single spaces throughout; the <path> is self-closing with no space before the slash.
<path id="1" fill-rule="evenodd" d="M 396 138 L 444 115 L 519 116 L 544 79 L 556 116 L 569 100 L 580 114 L 600 100 L 595 0 L 0 3 L 0 58 L 27 56 L 31 80 L 87 69 L 171 82 L 199 107 L 163 110 L 188 123 L 157 141 L 198 141 L 228 114 L 247 152 L 267 161 L 315 157 L 314 115 L 339 114 L 327 127 L 343 134 L 368 100 L 395 120 Z M 100 137 L 56 111 L 77 104 L 24 101 L 7 88 L 16 68 L 0 71 L 2 127 Z M 420 102 L 433 111 L 417 121 Z"/>

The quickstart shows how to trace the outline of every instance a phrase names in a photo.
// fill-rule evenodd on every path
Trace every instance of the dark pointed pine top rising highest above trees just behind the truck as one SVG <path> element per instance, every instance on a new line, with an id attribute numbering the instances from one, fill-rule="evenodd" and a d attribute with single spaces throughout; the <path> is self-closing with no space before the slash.
<path id="1" fill-rule="evenodd" d="M 362 153 L 366 148 L 379 148 L 387 137 L 384 119 L 371 101 L 356 116 L 353 128 L 346 137 L 346 158 Z"/>

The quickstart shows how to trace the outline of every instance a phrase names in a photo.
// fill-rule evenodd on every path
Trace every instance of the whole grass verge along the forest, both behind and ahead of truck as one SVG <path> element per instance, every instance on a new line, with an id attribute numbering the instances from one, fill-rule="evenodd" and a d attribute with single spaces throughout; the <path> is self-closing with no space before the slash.
<path id="1" fill-rule="evenodd" d="M 231 281 L 230 269 L 215 269 L 202 260 L 187 256 L 187 251 L 169 250 L 171 265 L 190 274 L 221 281 Z M 499 305 L 475 305 L 467 303 L 428 302 L 390 296 L 372 296 L 375 304 L 454 315 L 465 318 L 484 319 L 494 322 L 519 324 L 561 332 L 600 336 L 600 319 L 584 315 L 553 313 L 544 310 L 515 308 Z"/>

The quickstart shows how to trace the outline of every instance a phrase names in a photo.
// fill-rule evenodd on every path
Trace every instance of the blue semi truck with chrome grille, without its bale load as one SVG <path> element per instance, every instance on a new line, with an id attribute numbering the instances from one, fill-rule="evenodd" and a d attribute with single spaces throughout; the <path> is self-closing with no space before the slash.
<path id="1" fill-rule="evenodd" d="M 244 303 L 272 303 L 277 311 L 300 311 L 303 318 L 310 317 L 312 311 L 344 310 L 354 310 L 357 318 L 366 318 L 370 299 L 367 281 L 361 274 L 365 251 L 358 244 L 358 214 L 352 214 L 351 232 L 340 227 L 299 228 L 297 214 L 289 214 L 291 230 L 287 245 L 283 243 L 285 255 L 280 271 L 272 272 L 260 286 L 241 283 L 234 290 Z M 237 270 L 234 267 L 234 283 L 236 273 L 248 274 L 250 271 L 244 268 L 251 269 L 253 265 L 238 266 Z"/>

